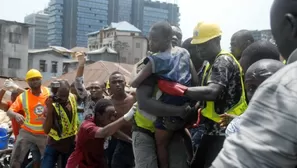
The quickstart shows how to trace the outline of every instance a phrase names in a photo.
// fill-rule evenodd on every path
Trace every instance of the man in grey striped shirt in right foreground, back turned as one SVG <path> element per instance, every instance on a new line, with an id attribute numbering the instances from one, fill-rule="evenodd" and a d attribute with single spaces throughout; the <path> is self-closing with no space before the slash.
<path id="1" fill-rule="evenodd" d="M 297 1 L 274 0 L 271 32 L 281 55 L 296 56 Z M 212 167 L 296 167 L 296 62 L 284 66 L 257 89 Z"/>

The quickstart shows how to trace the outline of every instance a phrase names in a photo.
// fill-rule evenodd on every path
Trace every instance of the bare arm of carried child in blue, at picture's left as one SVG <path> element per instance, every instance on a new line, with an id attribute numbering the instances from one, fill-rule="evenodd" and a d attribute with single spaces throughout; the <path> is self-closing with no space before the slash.
<path id="1" fill-rule="evenodd" d="M 137 88 L 146 78 L 151 76 L 153 73 L 152 63 L 149 61 L 145 67 L 136 75 L 136 77 L 131 80 L 130 86 Z"/>

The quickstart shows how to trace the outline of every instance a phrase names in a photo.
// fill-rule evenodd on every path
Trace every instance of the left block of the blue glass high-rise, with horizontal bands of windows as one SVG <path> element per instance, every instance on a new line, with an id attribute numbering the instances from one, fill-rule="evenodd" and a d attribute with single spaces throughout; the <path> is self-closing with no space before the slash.
<path id="1" fill-rule="evenodd" d="M 51 0 L 49 45 L 87 46 L 87 33 L 107 25 L 108 0 Z"/>

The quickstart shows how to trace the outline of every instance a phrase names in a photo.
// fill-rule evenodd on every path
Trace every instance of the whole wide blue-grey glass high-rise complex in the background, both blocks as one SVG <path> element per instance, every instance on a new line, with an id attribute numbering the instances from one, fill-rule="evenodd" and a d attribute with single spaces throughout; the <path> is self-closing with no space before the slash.
<path id="1" fill-rule="evenodd" d="M 179 26 L 179 7 L 175 3 L 152 0 L 51 0 L 48 42 L 52 46 L 87 46 L 86 34 L 111 22 L 127 21 L 144 35 L 153 23 L 166 20 Z"/>

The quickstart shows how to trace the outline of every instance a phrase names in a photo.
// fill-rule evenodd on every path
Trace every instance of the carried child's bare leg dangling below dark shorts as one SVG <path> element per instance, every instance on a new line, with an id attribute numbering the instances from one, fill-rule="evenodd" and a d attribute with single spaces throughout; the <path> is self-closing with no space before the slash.
<path id="1" fill-rule="evenodd" d="M 168 144 L 172 136 L 172 132 L 168 130 L 156 129 L 155 139 L 157 146 L 157 155 L 159 161 L 159 168 L 169 168 L 168 158 Z"/>

